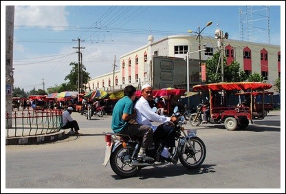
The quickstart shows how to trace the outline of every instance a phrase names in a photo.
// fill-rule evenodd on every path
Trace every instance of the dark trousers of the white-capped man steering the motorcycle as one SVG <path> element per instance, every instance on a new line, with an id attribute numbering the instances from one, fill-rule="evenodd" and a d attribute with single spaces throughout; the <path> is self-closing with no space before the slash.
<path id="1" fill-rule="evenodd" d="M 153 132 L 153 138 L 161 139 L 164 147 L 175 147 L 175 133 L 173 126 L 162 124 Z"/>

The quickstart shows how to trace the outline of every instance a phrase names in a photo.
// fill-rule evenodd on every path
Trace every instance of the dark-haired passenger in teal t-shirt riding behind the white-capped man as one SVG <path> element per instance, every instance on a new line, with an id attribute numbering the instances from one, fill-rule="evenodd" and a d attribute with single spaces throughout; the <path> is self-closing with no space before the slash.
<path id="1" fill-rule="evenodd" d="M 113 109 L 111 129 L 114 133 L 142 138 L 142 144 L 137 158 L 139 160 L 153 161 L 153 158 L 145 154 L 146 148 L 152 146 L 152 128 L 147 125 L 131 122 L 131 120 L 136 117 L 136 111 L 133 109 L 133 101 L 136 97 L 135 91 L 136 88 L 133 87 L 133 85 L 127 85 L 124 88 L 124 97 L 118 100 Z"/>

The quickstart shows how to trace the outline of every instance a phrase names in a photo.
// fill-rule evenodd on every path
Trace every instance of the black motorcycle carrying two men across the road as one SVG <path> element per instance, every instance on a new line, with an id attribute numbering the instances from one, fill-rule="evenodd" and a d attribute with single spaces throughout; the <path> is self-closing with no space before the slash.
<path id="1" fill-rule="evenodd" d="M 176 131 L 176 145 L 169 149 L 170 161 L 160 159 L 163 149 L 162 140 L 153 139 L 153 147 L 146 149 L 146 155 L 153 158 L 153 161 L 137 160 L 141 144 L 138 138 L 104 132 L 107 147 L 102 165 L 107 166 L 110 161 L 111 169 L 120 177 L 133 177 L 144 167 L 164 166 L 170 162 L 177 164 L 178 160 L 187 169 L 199 168 L 206 158 L 206 146 L 197 136 L 197 130 L 185 130 L 182 127 L 186 125 L 186 120 L 175 109 L 173 116 L 178 118 L 177 122 L 173 123 Z"/>

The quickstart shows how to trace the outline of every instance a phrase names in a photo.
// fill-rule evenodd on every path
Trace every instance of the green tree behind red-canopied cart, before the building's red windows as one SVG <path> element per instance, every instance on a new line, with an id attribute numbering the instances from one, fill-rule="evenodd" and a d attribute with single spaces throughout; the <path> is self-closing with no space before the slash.
<path id="1" fill-rule="evenodd" d="M 223 58 L 223 70 L 223 82 L 241 82 L 248 78 L 236 61 L 232 61 L 230 65 L 226 65 L 225 57 Z M 221 82 L 221 58 L 219 52 L 206 61 L 206 73 L 208 83 Z"/>

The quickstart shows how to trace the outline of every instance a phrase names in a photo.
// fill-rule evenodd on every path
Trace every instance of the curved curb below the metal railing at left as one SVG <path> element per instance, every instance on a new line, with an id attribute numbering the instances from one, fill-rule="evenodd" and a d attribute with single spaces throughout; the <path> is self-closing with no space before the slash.
<path id="1" fill-rule="evenodd" d="M 6 138 L 6 145 L 39 144 L 39 143 L 63 140 L 63 138 L 65 138 L 65 130 L 60 130 L 56 133 L 49 133 L 39 136 L 27 136 L 27 137 L 21 136 L 21 137 Z"/>

